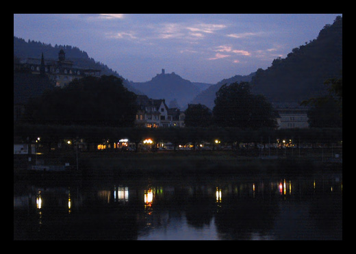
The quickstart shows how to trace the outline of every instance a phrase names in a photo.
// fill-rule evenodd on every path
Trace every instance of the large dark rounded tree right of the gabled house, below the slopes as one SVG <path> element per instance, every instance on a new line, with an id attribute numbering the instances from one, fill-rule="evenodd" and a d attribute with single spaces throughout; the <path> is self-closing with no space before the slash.
<path id="1" fill-rule="evenodd" d="M 218 126 L 258 129 L 277 125 L 271 103 L 263 95 L 252 94 L 248 82 L 221 86 L 214 102 L 213 118 Z"/>

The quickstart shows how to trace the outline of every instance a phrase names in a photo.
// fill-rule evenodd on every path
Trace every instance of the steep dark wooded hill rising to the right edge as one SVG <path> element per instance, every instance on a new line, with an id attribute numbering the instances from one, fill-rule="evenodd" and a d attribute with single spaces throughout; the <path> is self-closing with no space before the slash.
<path id="1" fill-rule="evenodd" d="M 292 49 L 287 58 L 273 60 L 253 77 L 253 92 L 272 102 L 301 102 L 327 92 L 323 84 L 342 77 L 342 17 L 325 25 L 315 40 Z"/>

